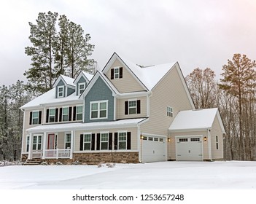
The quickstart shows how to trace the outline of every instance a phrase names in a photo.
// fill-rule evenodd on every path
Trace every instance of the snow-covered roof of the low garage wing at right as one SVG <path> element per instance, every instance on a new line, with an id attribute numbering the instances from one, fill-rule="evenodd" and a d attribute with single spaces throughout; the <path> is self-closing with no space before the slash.
<path id="1" fill-rule="evenodd" d="M 168 130 L 170 132 L 176 132 L 182 130 L 211 129 L 216 116 L 220 122 L 222 133 L 225 133 L 222 119 L 220 118 L 220 113 L 217 108 L 179 111 Z"/>

